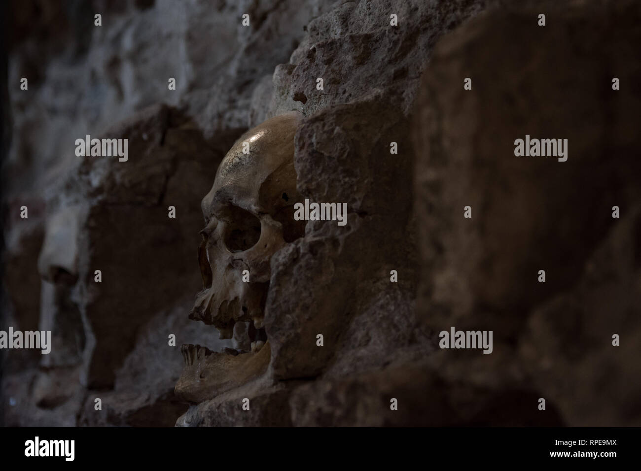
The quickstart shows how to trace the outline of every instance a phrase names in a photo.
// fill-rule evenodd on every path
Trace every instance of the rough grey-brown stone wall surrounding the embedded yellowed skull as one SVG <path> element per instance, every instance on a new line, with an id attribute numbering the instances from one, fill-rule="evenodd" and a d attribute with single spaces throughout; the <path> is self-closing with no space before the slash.
<path id="1" fill-rule="evenodd" d="M 0 351 L 2 424 L 640 424 L 633 2 L 8 8 L 1 326 L 54 348 Z M 347 225 L 310 221 L 272 258 L 265 381 L 183 404 L 181 343 L 232 345 L 188 320 L 201 198 L 238 136 L 291 110 L 297 189 Z M 87 134 L 129 160 L 76 156 Z M 526 134 L 569 138 L 568 161 L 515 157 Z M 450 326 L 494 351 L 439 349 Z"/>

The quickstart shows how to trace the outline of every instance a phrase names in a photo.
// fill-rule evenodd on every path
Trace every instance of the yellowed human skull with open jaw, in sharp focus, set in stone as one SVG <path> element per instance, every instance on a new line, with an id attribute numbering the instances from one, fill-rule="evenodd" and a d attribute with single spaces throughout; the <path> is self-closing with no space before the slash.
<path id="1" fill-rule="evenodd" d="M 301 200 L 294 135 L 301 118 L 299 112 L 279 115 L 242 135 L 221 161 L 212 189 L 203 198 L 206 226 L 198 250 L 203 290 L 189 317 L 215 326 L 221 338 L 231 338 L 235 324 L 248 323 L 252 351 L 218 353 L 183 345 L 187 365 L 176 394 L 187 401 L 210 399 L 267 370 L 263 309 L 270 261 L 304 234 L 305 222 L 294 220 L 294 204 Z"/>

